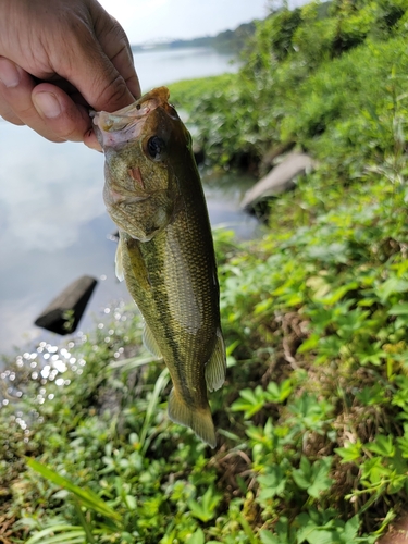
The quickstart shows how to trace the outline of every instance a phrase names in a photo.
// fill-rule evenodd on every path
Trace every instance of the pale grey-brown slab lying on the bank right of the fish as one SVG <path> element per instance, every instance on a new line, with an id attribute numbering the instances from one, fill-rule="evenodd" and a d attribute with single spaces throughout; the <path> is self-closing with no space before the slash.
<path id="1" fill-rule="evenodd" d="M 277 166 L 247 191 L 240 203 L 242 208 L 246 211 L 252 211 L 261 200 L 294 189 L 296 187 L 295 177 L 312 166 L 313 161 L 306 153 L 287 154 Z"/>

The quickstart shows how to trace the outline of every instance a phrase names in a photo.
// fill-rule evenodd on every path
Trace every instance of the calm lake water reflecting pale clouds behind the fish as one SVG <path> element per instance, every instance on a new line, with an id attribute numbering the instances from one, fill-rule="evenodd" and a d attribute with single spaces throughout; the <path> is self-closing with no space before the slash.
<path id="1" fill-rule="evenodd" d="M 183 78 L 236 70 L 231 57 L 207 49 L 135 55 L 143 90 Z M 33 323 L 44 308 L 83 274 L 99 280 L 79 323 L 119 300 L 131 300 L 114 275 L 115 226 L 102 199 L 103 156 L 79 144 L 52 144 L 26 127 L 0 121 L 0 354 L 59 336 Z M 256 221 L 239 211 L 248 178 L 205 184 L 212 225 L 246 237 Z"/>

